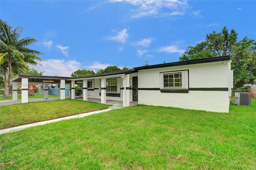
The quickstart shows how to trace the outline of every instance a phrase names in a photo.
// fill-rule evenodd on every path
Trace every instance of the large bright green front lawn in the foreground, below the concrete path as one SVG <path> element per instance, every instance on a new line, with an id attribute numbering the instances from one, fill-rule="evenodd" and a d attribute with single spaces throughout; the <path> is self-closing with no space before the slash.
<path id="1" fill-rule="evenodd" d="M 256 100 L 230 113 L 137 105 L 0 135 L 3 169 L 255 169 Z"/>

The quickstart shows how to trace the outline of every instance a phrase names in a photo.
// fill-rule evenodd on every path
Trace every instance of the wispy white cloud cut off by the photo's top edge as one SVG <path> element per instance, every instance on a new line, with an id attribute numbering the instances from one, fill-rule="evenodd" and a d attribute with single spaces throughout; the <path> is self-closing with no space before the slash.
<path id="1" fill-rule="evenodd" d="M 170 10 L 184 11 L 188 8 L 187 0 L 118 0 L 111 2 L 124 2 L 134 6 L 136 9 L 131 10 L 134 15 L 133 18 L 140 18 L 143 16 L 166 16 L 166 11 Z M 177 12 L 173 14 L 182 14 Z"/>

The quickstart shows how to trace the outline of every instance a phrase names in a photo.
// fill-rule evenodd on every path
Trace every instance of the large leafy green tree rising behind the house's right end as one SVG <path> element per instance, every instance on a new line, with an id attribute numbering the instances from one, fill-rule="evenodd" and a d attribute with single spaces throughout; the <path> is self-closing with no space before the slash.
<path id="1" fill-rule="evenodd" d="M 245 37 L 237 42 L 235 30 L 228 33 L 226 26 L 220 33 L 207 34 L 206 39 L 196 46 L 188 46 L 180 61 L 230 55 L 234 70 L 234 86 L 252 83 L 256 79 L 255 41 Z"/>

